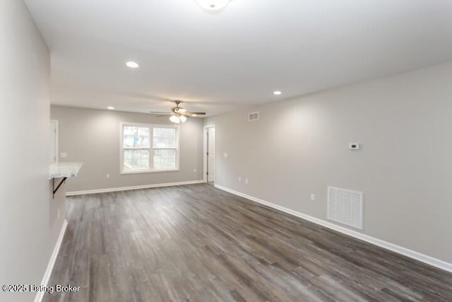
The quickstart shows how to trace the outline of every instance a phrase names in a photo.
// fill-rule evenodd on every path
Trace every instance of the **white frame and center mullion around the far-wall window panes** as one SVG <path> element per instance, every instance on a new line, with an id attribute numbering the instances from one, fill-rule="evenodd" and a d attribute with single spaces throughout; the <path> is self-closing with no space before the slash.
<path id="1" fill-rule="evenodd" d="M 176 168 L 174 169 L 167 169 L 167 170 L 160 170 L 160 169 L 145 169 L 145 170 L 124 170 L 124 127 L 125 126 L 129 126 L 129 127 L 148 127 L 149 128 L 149 133 L 150 133 L 150 141 L 149 141 L 149 163 L 150 162 L 150 158 L 151 156 L 154 156 L 154 148 L 153 148 L 153 144 L 154 144 L 154 128 L 173 128 L 176 129 Z M 137 122 L 121 122 L 120 123 L 120 137 L 119 137 L 119 169 L 120 169 L 120 173 L 121 174 L 138 174 L 138 173 L 156 173 L 156 172 L 174 172 L 174 171 L 179 171 L 179 156 L 180 156 L 180 148 L 179 148 L 179 125 L 171 125 L 171 124 L 143 124 L 143 123 L 137 123 Z M 147 149 L 147 148 L 142 148 L 142 149 Z M 172 149 L 172 148 L 169 148 Z"/>

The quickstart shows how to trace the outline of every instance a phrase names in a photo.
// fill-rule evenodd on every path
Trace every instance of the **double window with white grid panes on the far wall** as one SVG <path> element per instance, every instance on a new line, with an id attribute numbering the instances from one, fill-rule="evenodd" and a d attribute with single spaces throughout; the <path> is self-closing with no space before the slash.
<path id="1" fill-rule="evenodd" d="M 178 128 L 121 124 L 121 173 L 179 170 Z"/>

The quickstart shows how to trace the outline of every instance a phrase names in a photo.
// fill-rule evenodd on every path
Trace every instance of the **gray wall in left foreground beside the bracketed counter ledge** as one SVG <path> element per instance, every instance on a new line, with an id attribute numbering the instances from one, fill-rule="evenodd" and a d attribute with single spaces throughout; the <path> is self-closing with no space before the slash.
<path id="1" fill-rule="evenodd" d="M 0 1 L 0 45 L 0 284 L 41 284 L 64 197 L 49 197 L 49 52 L 23 1 Z"/>

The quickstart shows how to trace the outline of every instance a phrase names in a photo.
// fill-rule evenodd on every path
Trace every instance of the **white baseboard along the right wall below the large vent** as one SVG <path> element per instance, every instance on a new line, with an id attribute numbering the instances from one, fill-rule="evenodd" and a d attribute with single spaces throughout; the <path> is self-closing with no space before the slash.
<path id="1" fill-rule="evenodd" d="M 367 243 L 378 245 L 381 248 L 386 248 L 386 250 L 391 250 L 393 252 L 397 252 L 398 254 L 401 254 L 401 255 L 410 257 L 412 259 L 418 260 L 420 262 L 427 263 L 427 265 L 432 265 L 433 267 L 438 267 L 439 269 L 444 269 L 447 272 L 452 272 L 452 263 L 448 263 L 448 262 L 445 262 L 443 260 L 439 260 L 439 259 L 436 259 L 434 257 L 430 257 L 430 256 L 427 256 L 427 255 L 424 255 L 424 254 L 422 254 L 420 252 L 416 252 L 416 251 L 410 250 L 408 248 L 403 248 L 400 245 L 395 245 L 393 243 L 388 243 L 387 241 L 384 241 L 384 240 L 381 240 L 381 239 L 378 239 L 378 238 L 374 238 L 374 237 L 365 235 L 363 233 L 359 233 L 357 231 L 350 230 L 349 228 L 344 228 L 343 226 L 335 225 L 334 223 L 331 223 L 331 222 L 328 222 L 328 221 L 324 221 L 322 219 L 318 219 L 318 218 L 315 218 L 315 217 L 312 217 L 312 216 L 300 213 L 299 211 L 294 211 L 292 209 L 287 209 L 285 207 L 278 206 L 278 204 L 273 204 L 271 202 L 266 202 L 265 200 L 258 199 L 256 197 L 252 197 L 250 195 L 231 190 L 231 189 L 229 189 L 227 187 L 222 187 L 220 185 L 215 185 L 215 187 L 217 187 L 220 190 L 223 190 L 223 191 L 235 194 L 237 196 L 244 197 L 244 198 L 249 199 L 249 200 L 251 200 L 253 202 L 258 202 L 259 204 L 264 204 L 264 205 L 266 205 L 268 207 L 271 207 L 273 209 L 277 209 L 279 211 L 283 211 L 283 212 L 285 212 L 287 214 L 291 214 L 293 216 L 297 216 L 299 218 L 306 219 L 307 221 L 311 221 L 311 222 L 317 223 L 317 224 L 319 224 L 321 226 L 325 226 L 326 228 L 331 228 L 334 231 L 338 231 L 340 233 L 344 233 L 345 235 L 352 236 L 352 237 L 357 238 L 359 240 L 366 241 Z"/>

